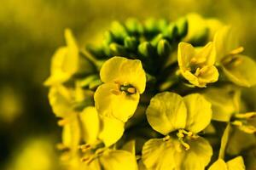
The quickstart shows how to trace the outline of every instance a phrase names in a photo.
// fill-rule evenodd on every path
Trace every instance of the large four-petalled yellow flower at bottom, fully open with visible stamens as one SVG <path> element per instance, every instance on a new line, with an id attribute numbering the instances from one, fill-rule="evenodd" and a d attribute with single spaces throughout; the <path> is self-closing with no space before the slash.
<path id="1" fill-rule="evenodd" d="M 146 115 L 150 126 L 166 135 L 164 139 L 150 139 L 143 145 L 143 163 L 147 168 L 204 169 L 207 166 L 212 147 L 197 133 L 211 122 L 212 109 L 201 94 L 184 98 L 169 92 L 156 94 Z"/>

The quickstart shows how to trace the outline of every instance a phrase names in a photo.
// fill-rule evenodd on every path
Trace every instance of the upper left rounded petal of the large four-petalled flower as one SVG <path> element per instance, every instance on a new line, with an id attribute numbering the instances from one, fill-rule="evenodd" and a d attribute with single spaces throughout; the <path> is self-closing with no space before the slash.
<path id="1" fill-rule="evenodd" d="M 146 115 L 150 126 L 166 135 L 185 127 L 187 109 L 180 95 L 164 92 L 150 100 Z"/>

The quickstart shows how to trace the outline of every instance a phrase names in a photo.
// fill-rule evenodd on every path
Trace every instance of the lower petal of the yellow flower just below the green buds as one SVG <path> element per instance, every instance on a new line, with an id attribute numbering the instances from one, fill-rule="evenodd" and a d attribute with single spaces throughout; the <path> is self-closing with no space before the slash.
<path id="1" fill-rule="evenodd" d="M 120 92 L 117 83 L 104 83 L 94 95 L 96 110 L 102 116 L 115 117 L 126 122 L 136 111 L 139 94 L 127 95 Z"/>

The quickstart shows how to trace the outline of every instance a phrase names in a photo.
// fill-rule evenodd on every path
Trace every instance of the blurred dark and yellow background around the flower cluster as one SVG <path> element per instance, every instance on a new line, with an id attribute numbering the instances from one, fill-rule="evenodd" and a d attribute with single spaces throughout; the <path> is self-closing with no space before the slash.
<path id="1" fill-rule="evenodd" d="M 236 26 L 245 54 L 256 59 L 255 8 L 254 0 L 2 0 L 0 169 L 60 169 L 55 144 L 61 131 L 43 82 L 51 55 L 65 43 L 65 28 L 71 28 L 83 46 L 98 41 L 112 20 L 175 20 L 195 12 Z M 247 94 L 256 105 L 256 88 Z"/>

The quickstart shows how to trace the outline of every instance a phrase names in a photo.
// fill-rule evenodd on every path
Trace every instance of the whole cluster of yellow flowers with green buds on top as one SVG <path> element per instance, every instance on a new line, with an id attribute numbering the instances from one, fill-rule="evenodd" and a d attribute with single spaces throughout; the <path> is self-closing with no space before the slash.
<path id="1" fill-rule="evenodd" d="M 44 84 L 66 169 L 245 169 L 253 160 L 244 153 L 256 144 L 256 112 L 241 94 L 256 85 L 256 63 L 230 26 L 189 14 L 114 21 L 86 48 L 65 37 Z"/>

